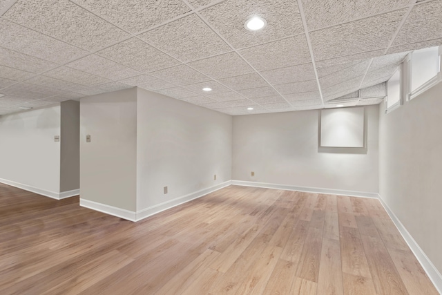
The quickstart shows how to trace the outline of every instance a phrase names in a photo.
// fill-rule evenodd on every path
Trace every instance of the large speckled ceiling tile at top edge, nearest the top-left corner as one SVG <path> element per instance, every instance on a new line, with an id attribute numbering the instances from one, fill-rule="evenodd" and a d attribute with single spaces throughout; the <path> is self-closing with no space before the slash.
<path id="1" fill-rule="evenodd" d="M 68 0 L 19 0 L 3 17 L 86 50 L 130 36 Z"/>

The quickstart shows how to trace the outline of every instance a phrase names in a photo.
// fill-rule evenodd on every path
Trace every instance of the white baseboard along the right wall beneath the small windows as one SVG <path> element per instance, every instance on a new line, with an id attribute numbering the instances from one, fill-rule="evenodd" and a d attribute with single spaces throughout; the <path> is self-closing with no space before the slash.
<path id="1" fill-rule="evenodd" d="M 432 281 L 434 287 L 436 287 L 437 291 L 442 294 L 442 275 L 439 270 L 436 269 L 431 260 L 427 257 L 427 255 L 425 255 L 424 251 L 422 251 L 421 247 L 419 247 L 419 244 L 414 240 L 407 229 L 405 229 L 401 220 L 397 218 L 396 214 L 394 214 L 390 207 L 388 207 L 388 205 L 382 200 L 381 196 L 379 196 L 379 200 L 381 201 L 381 204 L 385 208 L 385 211 L 387 211 L 390 218 L 392 218 L 394 225 L 396 225 L 405 242 L 407 242 L 408 247 L 410 247 L 419 263 L 421 263 L 423 270 L 425 270 L 425 272 L 427 273 L 427 276 Z"/>

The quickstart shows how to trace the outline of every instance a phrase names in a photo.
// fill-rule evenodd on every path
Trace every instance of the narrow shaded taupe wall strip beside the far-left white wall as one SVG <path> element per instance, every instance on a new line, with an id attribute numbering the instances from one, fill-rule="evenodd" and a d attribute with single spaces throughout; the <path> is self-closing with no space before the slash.
<path id="1" fill-rule="evenodd" d="M 60 191 L 80 188 L 80 103 L 61 102 Z"/>

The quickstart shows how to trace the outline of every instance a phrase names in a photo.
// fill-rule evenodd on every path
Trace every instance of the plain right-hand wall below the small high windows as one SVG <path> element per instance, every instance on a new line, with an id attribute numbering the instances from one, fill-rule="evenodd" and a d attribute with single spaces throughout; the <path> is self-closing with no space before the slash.
<path id="1" fill-rule="evenodd" d="M 442 272 L 442 84 L 379 120 L 379 195 Z"/>

